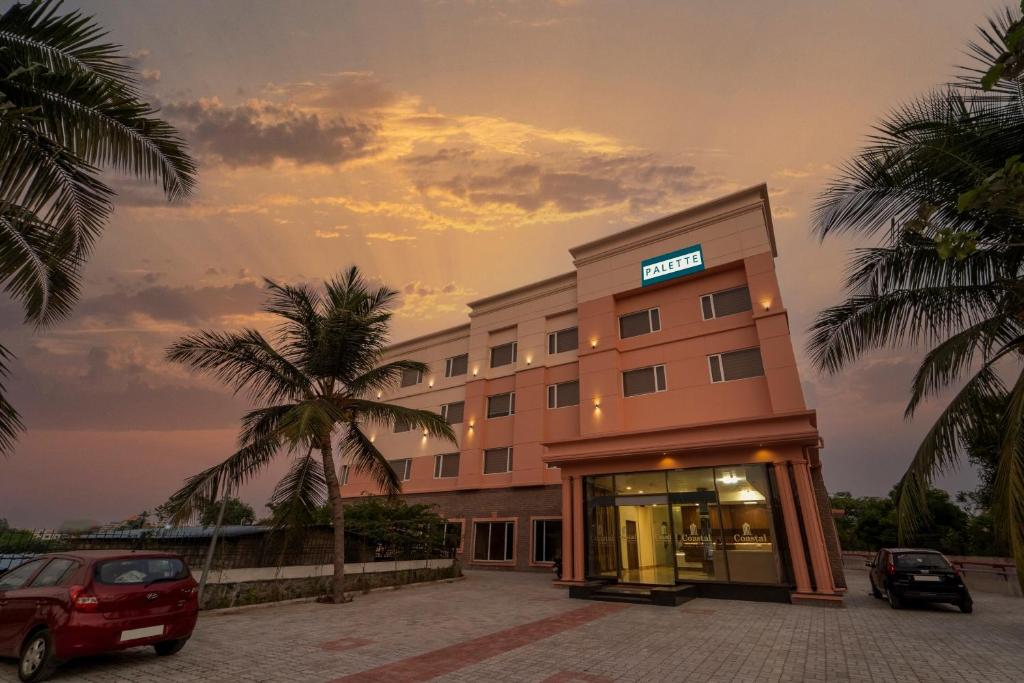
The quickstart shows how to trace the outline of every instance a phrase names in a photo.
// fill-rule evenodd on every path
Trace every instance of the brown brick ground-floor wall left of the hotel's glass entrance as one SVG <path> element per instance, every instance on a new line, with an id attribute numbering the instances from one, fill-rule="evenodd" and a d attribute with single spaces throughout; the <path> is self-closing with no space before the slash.
<path id="1" fill-rule="evenodd" d="M 516 569 L 541 569 L 530 566 L 530 517 L 561 517 L 561 486 L 516 486 L 514 488 L 478 488 L 438 494 L 410 494 L 403 497 L 410 505 L 435 505 L 445 519 L 462 519 L 462 552 L 458 555 L 464 566 L 495 566 Z M 495 517 L 514 518 L 516 549 L 514 563 L 473 562 L 473 519 Z"/>

